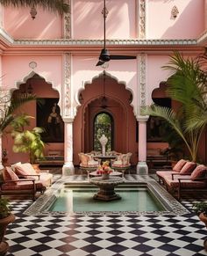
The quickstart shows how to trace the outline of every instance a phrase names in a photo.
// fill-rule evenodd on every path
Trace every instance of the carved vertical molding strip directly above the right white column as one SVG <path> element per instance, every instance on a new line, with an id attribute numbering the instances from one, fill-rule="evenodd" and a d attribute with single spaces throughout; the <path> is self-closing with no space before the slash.
<path id="1" fill-rule="evenodd" d="M 146 106 L 146 55 L 139 55 L 139 106 Z"/>

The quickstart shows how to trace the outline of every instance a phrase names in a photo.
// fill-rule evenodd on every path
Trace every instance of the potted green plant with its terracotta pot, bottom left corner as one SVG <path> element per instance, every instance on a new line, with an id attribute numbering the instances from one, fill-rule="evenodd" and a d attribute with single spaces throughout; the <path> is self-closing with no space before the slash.
<path id="1" fill-rule="evenodd" d="M 11 213 L 9 201 L 0 198 L 0 255 L 4 255 L 9 249 L 8 243 L 4 241 L 4 235 L 8 224 L 13 223 L 14 220 L 15 216 Z"/>

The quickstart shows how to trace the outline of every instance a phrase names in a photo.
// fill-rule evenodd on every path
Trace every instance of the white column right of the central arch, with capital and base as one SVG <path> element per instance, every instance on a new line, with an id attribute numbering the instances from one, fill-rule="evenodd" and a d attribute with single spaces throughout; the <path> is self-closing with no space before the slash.
<path id="1" fill-rule="evenodd" d="M 139 116 L 139 162 L 137 165 L 137 174 L 148 174 L 148 166 L 146 165 L 146 121 L 148 116 Z"/>

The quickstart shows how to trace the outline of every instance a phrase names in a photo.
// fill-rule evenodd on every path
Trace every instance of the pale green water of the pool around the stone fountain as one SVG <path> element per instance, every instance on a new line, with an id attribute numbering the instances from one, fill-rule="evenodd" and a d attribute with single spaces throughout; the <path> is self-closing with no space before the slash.
<path id="1" fill-rule="evenodd" d="M 147 187 L 117 187 L 120 200 L 99 201 L 93 196 L 98 191 L 95 187 L 63 187 L 56 200 L 47 210 L 53 212 L 105 212 L 105 211 L 164 211 L 166 208 L 155 198 Z"/>

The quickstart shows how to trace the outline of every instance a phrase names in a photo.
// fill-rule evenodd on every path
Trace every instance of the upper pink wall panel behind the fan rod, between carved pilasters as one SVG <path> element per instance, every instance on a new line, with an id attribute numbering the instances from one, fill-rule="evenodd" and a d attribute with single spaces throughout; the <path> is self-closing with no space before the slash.
<path id="1" fill-rule="evenodd" d="M 106 37 L 111 39 L 136 37 L 136 1 L 106 1 Z M 73 1 L 73 38 L 103 39 L 103 1 Z M 116 20 L 116 22 L 114 22 Z M 93 32 L 93 33 L 91 33 Z"/>

